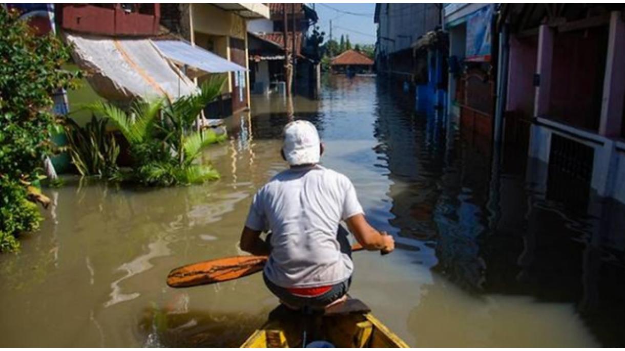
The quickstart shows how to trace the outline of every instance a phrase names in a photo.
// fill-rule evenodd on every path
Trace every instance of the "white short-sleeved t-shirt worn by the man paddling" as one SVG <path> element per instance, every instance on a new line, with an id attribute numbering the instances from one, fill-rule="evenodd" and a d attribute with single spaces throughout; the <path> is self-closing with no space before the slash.
<path id="1" fill-rule="evenodd" d="M 340 250 L 341 220 L 362 214 L 351 181 L 319 165 L 288 169 L 254 195 L 246 226 L 271 229 L 271 256 L 264 272 L 285 287 L 338 284 L 352 274 L 351 259 Z"/>

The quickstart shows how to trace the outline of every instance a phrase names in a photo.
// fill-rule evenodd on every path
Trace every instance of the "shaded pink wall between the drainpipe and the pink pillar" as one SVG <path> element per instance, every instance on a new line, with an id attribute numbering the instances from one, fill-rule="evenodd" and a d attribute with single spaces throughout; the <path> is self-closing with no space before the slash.
<path id="1" fill-rule="evenodd" d="M 522 111 L 525 117 L 534 114 L 534 86 L 538 36 L 516 39 L 510 37 L 506 110 Z"/>

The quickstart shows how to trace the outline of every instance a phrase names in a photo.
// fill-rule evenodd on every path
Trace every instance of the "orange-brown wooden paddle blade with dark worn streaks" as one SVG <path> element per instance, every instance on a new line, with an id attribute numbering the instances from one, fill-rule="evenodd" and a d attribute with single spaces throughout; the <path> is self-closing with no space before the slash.
<path id="1" fill-rule="evenodd" d="M 238 279 L 261 271 L 266 256 L 235 256 L 184 265 L 171 270 L 167 285 L 174 288 L 193 287 Z"/>

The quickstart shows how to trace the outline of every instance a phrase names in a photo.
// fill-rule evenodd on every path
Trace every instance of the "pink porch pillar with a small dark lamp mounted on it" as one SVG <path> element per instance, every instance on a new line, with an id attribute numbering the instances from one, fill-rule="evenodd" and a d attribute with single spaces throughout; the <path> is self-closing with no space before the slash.
<path id="1" fill-rule="evenodd" d="M 542 116 L 549 111 L 549 92 L 551 91 L 551 64 L 553 61 L 554 32 L 547 24 L 540 26 L 538 34 L 538 57 L 536 74 L 540 77 L 534 98 L 534 116 Z"/>

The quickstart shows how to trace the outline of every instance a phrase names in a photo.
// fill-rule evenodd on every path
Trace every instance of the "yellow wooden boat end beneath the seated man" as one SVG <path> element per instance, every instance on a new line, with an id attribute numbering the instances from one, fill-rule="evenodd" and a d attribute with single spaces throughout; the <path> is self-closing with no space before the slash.
<path id="1" fill-rule="evenodd" d="M 311 345 L 312 342 L 315 344 Z M 351 298 L 312 314 L 281 305 L 241 347 L 302 347 L 302 344 L 319 347 L 319 342 L 333 347 L 409 347 L 376 319 L 369 307 Z"/>

